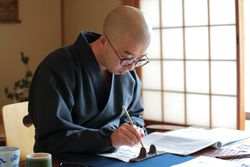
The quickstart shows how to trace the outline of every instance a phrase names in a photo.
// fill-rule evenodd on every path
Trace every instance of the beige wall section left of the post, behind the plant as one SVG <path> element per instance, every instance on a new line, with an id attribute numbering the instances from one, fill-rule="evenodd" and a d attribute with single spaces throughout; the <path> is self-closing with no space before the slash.
<path id="1" fill-rule="evenodd" d="M 12 88 L 24 76 L 20 51 L 30 57 L 34 71 L 51 50 L 61 46 L 60 0 L 19 1 L 19 18 L 18 24 L 0 24 L 0 108 L 12 103 L 4 88 Z M 2 130 L 0 115 L 0 135 Z"/>

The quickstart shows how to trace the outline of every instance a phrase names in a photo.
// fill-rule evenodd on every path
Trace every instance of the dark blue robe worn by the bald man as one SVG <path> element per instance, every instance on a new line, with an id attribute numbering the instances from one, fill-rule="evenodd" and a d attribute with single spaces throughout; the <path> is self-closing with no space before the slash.
<path id="1" fill-rule="evenodd" d="M 111 133 L 129 122 L 123 105 L 134 124 L 144 127 L 140 80 L 135 71 L 112 74 L 106 87 L 89 46 L 99 37 L 81 32 L 73 45 L 52 52 L 38 66 L 29 94 L 35 152 L 113 151 Z"/>

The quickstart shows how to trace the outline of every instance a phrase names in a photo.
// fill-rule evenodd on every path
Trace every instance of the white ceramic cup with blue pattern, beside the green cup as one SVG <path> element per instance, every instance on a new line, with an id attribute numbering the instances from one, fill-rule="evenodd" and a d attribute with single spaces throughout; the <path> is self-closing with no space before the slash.
<path id="1" fill-rule="evenodd" d="M 1 167 L 18 167 L 20 159 L 20 149 L 17 147 L 1 146 L 0 147 L 0 166 Z"/>

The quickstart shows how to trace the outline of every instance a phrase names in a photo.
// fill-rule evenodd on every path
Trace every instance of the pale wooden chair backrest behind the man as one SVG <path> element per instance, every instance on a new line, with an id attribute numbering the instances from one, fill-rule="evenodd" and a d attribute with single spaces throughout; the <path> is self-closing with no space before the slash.
<path id="1" fill-rule="evenodd" d="M 24 160 L 27 154 L 33 153 L 35 143 L 34 126 L 26 127 L 23 124 L 23 117 L 28 114 L 28 102 L 5 105 L 2 114 L 6 145 L 20 148 L 20 159 Z"/>

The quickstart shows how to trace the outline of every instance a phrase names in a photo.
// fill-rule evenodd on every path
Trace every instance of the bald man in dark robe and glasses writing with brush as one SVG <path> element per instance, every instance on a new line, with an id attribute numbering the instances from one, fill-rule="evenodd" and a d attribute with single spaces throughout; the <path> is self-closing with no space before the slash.
<path id="1" fill-rule="evenodd" d="M 146 130 L 134 69 L 149 62 L 150 40 L 141 11 L 120 6 L 107 15 L 102 35 L 82 31 L 72 45 L 50 53 L 30 87 L 34 151 L 103 153 L 138 144 Z"/>

